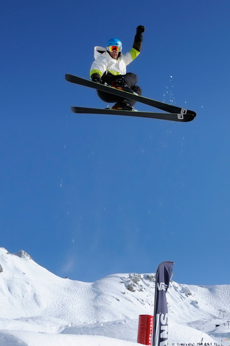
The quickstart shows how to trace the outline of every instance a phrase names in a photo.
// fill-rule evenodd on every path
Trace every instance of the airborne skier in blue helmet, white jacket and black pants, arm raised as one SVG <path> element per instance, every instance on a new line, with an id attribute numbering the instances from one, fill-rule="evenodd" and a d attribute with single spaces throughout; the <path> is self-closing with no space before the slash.
<path id="1" fill-rule="evenodd" d="M 108 84 L 120 90 L 141 95 L 141 88 L 136 85 L 137 76 L 134 73 L 126 73 L 126 66 L 140 54 L 145 27 L 139 25 L 131 50 L 122 54 L 122 43 L 118 38 L 111 38 L 107 42 L 107 48 L 95 47 L 95 61 L 90 69 L 90 78 L 93 82 Z M 106 103 L 116 104 L 112 109 L 134 110 L 134 100 L 122 98 L 104 91 L 97 90 L 99 97 Z"/>

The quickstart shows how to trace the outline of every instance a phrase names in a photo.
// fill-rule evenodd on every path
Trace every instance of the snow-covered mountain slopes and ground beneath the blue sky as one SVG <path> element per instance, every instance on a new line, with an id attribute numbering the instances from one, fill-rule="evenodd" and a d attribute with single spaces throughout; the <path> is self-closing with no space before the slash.
<path id="1" fill-rule="evenodd" d="M 81 282 L 52 274 L 24 251 L 4 248 L 0 265 L 0 346 L 132 346 L 139 315 L 153 315 L 153 273 Z M 167 301 L 169 345 L 197 345 L 202 338 L 230 345 L 230 285 L 171 280 Z"/>

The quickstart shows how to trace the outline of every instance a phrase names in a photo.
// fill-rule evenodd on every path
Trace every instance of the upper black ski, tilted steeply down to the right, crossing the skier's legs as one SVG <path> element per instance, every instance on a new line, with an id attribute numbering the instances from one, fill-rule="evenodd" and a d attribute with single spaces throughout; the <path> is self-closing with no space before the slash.
<path id="1" fill-rule="evenodd" d="M 161 110 L 169 112 L 169 113 L 175 113 L 175 114 L 187 114 L 188 113 L 188 114 L 193 114 L 193 117 L 196 116 L 196 113 L 194 111 L 190 111 L 190 110 L 187 110 L 185 108 L 180 108 L 180 107 L 176 107 L 173 105 L 168 105 L 168 104 L 165 104 L 164 102 L 156 101 L 156 100 L 153 100 L 151 98 L 144 97 L 144 96 L 131 94 L 127 91 L 119 90 L 119 89 L 116 89 L 116 88 L 113 88 L 110 86 L 106 86 L 103 84 L 92 82 L 91 80 L 77 77 L 77 76 L 74 76 L 72 74 L 66 74 L 65 79 L 71 83 L 79 84 L 79 85 L 93 88 L 93 89 L 97 89 L 100 91 L 105 91 L 105 92 L 108 92 L 110 94 L 114 94 L 117 96 L 122 96 L 122 97 L 125 97 L 128 99 L 138 101 L 138 102 L 141 102 L 143 104 L 161 109 Z"/>

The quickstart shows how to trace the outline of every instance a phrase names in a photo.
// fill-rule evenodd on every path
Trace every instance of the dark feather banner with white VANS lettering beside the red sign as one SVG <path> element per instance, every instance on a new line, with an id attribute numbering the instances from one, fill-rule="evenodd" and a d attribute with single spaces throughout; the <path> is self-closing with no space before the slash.
<path id="1" fill-rule="evenodd" d="M 156 272 L 153 346 L 167 346 L 168 343 L 168 307 L 166 292 L 172 277 L 173 264 L 174 262 L 162 262 Z"/>

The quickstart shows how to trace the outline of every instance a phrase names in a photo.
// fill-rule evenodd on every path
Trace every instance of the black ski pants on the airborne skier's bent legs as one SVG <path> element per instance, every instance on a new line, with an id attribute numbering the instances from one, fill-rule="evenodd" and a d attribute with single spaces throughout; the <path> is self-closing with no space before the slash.
<path id="1" fill-rule="evenodd" d="M 111 83 L 116 80 L 123 77 L 125 80 L 125 83 L 127 84 L 127 86 L 129 88 L 131 88 L 136 94 L 141 95 L 142 94 L 142 90 L 140 87 L 138 87 L 137 85 L 135 85 L 137 83 L 137 76 L 134 73 L 126 73 L 126 74 L 119 74 L 114 76 L 113 74 L 106 74 L 102 76 L 102 81 L 107 83 L 108 85 L 111 85 Z M 121 96 L 117 96 L 117 95 L 113 95 L 113 94 L 109 94 L 107 92 L 104 91 L 100 91 L 97 90 L 98 96 L 105 102 L 108 103 L 116 103 L 116 102 L 120 102 L 123 101 L 124 99 L 133 107 L 133 105 L 136 103 L 136 101 L 134 100 L 130 100 L 128 98 L 124 98 Z"/>

